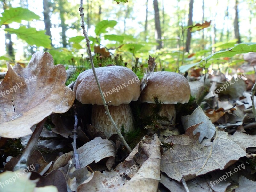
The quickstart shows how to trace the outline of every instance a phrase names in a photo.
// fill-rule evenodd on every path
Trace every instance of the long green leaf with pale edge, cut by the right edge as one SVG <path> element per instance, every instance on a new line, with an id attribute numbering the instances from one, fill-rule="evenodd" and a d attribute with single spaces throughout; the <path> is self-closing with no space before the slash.
<path id="1" fill-rule="evenodd" d="M 200 62 L 204 61 L 207 62 L 210 58 L 217 59 L 220 57 L 233 57 L 236 54 L 248 53 L 248 52 L 256 52 L 256 43 L 241 43 L 237 44 L 235 47 L 225 51 L 218 51 L 205 57 Z"/>

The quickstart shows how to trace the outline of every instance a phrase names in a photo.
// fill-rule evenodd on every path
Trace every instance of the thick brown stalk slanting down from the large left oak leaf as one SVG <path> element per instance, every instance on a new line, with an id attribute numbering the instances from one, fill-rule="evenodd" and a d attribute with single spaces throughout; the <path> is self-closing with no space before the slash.
<path id="1" fill-rule="evenodd" d="M 32 133 L 28 144 L 23 152 L 23 154 L 20 157 L 20 160 L 18 161 L 18 163 L 15 165 L 15 167 L 13 168 L 13 171 L 16 171 L 18 169 L 26 169 L 28 167 L 27 163 L 28 163 L 28 159 L 31 156 L 34 147 L 36 146 L 37 142 L 38 142 L 38 138 L 43 130 L 44 127 L 44 123 L 46 121 L 47 117 L 45 117 L 42 121 L 40 121 L 37 125 L 36 125 L 36 129 L 35 131 Z"/>

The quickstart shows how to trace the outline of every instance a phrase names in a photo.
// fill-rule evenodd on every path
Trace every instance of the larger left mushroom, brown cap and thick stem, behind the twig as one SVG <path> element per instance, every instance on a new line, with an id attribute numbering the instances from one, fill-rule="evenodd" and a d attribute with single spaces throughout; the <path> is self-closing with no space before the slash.
<path id="1" fill-rule="evenodd" d="M 95 68 L 96 75 L 108 103 L 108 108 L 117 127 L 125 126 L 125 130 L 133 129 L 134 118 L 129 105 L 140 96 L 140 80 L 129 68 L 109 66 Z M 114 126 L 106 115 L 92 69 L 82 72 L 74 84 L 76 99 L 83 104 L 92 104 L 92 125 L 104 132 L 106 137 L 116 133 Z"/>

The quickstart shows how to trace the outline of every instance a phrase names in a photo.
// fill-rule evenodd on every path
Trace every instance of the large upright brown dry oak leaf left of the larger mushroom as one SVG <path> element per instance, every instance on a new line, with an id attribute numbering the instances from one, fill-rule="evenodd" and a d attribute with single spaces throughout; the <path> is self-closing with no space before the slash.
<path id="1" fill-rule="evenodd" d="M 36 52 L 26 68 L 19 64 L 0 84 L 0 136 L 17 138 L 51 113 L 64 113 L 73 105 L 75 93 L 65 86 L 66 71 L 54 66 L 52 55 Z"/>

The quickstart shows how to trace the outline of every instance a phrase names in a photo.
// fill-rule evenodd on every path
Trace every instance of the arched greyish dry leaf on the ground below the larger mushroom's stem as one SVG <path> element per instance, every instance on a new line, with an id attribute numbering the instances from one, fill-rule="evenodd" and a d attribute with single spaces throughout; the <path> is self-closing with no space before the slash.
<path id="1" fill-rule="evenodd" d="M 100 160 L 109 157 L 110 160 L 106 162 L 106 166 L 110 170 L 114 164 L 113 159 L 116 156 L 115 148 L 112 143 L 107 139 L 101 139 L 97 137 L 88 143 L 85 143 L 82 147 L 77 149 L 79 154 L 80 167 L 86 167 L 93 161 L 96 163 Z"/>

